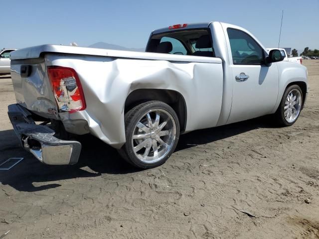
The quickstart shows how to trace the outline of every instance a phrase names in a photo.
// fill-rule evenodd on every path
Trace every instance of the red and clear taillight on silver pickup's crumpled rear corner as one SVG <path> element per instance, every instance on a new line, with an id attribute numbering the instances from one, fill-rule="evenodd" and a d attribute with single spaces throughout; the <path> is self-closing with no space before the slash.
<path id="1" fill-rule="evenodd" d="M 70 113 L 85 110 L 82 85 L 75 70 L 62 66 L 48 66 L 47 69 L 59 109 Z"/>

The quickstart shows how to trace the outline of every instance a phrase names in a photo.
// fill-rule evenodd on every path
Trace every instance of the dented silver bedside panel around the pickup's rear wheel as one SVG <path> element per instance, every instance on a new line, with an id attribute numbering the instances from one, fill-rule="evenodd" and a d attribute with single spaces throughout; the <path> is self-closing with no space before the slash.
<path id="1" fill-rule="evenodd" d="M 75 69 L 83 87 L 87 109 L 60 113 L 61 119 L 85 119 L 92 134 L 116 148 L 125 143 L 126 98 L 138 89 L 179 92 L 186 104 L 186 132 L 215 126 L 220 115 L 223 70 L 217 58 L 217 63 L 199 63 L 47 54 L 46 60 Z"/>

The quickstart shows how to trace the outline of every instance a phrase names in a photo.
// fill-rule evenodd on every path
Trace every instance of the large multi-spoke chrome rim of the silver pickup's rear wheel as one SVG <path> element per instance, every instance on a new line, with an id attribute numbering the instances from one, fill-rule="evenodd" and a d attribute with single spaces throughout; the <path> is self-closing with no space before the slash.
<path id="1" fill-rule="evenodd" d="M 135 125 L 132 147 L 140 161 L 155 163 L 169 153 L 175 139 L 176 122 L 173 117 L 163 109 L 153 109 Z"/>

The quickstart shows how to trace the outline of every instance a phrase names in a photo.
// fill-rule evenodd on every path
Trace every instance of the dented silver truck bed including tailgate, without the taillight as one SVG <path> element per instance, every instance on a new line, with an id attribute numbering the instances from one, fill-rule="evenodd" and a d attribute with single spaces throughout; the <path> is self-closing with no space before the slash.
<path id="1" fill-rule="evenodd" d="M 30 74 L 22 73 L 24 66 L 31 69 Z M 75 70 L 85 110 L 69 113 L 58 109 L 48 66 Z M 136 90 L 181 94 L 187 105 L 184 131 L 215 126 L 222 105 L 220 58 L 42 45 L 13 52 L 11 76 L 19 105 L 41 117 L 61 120 L 68 132 L 91 133 L 116 148 L 125 142 L 124 108 Z M 203 103 L 208 108 L 198 107 Z"/>

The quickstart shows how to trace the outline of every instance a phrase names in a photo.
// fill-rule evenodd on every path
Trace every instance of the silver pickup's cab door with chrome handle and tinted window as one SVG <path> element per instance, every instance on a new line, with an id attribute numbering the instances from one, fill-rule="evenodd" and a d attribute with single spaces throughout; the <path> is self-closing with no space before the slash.
<path id="1" fill-rule="evenodd" d="M 278 96 L 277 63 L 264 64 L 264 49 L 248 33 L 227 28 L 233 99 L 227 123 L 270 114 Z"/>

